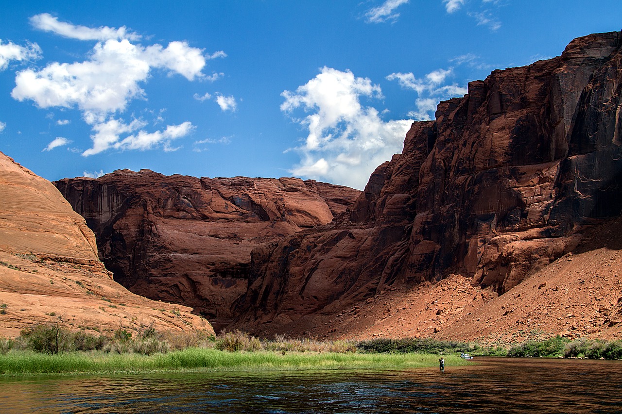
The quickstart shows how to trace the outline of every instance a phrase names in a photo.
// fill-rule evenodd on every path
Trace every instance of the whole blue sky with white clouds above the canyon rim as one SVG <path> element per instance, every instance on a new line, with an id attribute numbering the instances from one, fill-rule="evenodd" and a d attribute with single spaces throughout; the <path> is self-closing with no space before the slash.
<path id="1" fill-rule="evenodd" d="M 0 150 L 362 189 L 468 81 L 620 29 L 620 0 L 2 1 Z"/>

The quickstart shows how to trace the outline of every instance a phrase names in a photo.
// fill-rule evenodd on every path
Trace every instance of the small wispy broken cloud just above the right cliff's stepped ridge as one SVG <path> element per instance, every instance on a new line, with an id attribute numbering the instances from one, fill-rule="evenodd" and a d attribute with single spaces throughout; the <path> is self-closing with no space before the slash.
<path id="1" fill-rule="evenodd" d="M 432 119 L 439 101 L 468 93 L 467 88 L 458 86 L 457 83 L 443 85 L 452 75 L 453 69 L 449 68 L 432 71 L 422 79 L 415 78 L 415 75 L 411 72 L 391 73 L 386 78 L 387 80 L 397 80 L 402 87 L 417 92 L 419 95 L 415 100 L 417 109 L 411 111 L 408 116 L 413 117 L 417 121 L 424 121 Z"/>

